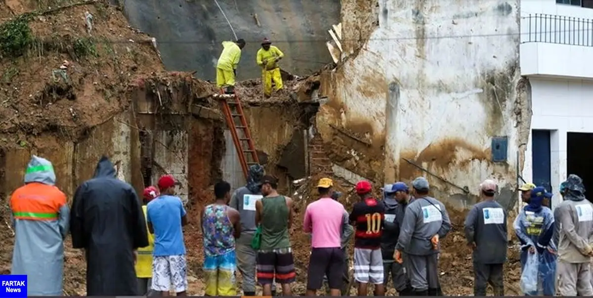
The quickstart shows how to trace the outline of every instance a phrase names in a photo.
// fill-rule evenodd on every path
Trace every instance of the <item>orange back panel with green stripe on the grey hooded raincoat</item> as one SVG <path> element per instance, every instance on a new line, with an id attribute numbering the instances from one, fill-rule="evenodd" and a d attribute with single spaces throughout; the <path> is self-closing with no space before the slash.
<path id="1" fill-rule="evenodd" d="M 15 219 L 56 220 L 66 197 L 51 185 L 31 183 L 18 188 L 10 198 Z"/>

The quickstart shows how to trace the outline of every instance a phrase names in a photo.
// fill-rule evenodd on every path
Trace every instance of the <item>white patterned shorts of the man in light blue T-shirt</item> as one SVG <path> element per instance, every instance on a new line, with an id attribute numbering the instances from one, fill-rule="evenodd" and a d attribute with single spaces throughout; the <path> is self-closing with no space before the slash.
<path id="1" fill-rule="evenodd" d="M 187 290 L 187 262 L 185 255 L 168 255 L 152 258 L 152 285 L 154 291 L 176 293 Z"/>

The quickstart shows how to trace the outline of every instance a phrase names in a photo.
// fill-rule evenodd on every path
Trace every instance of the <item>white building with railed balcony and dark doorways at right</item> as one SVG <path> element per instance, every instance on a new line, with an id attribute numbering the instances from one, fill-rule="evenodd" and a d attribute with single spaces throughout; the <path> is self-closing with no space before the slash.
<path id="1" fill-rule="evenodd" d="M 593 1 L 521 1 L 521 75 L 531 85 L 523 178 L 558 187 L 568 174 L 593 193 Z"/>

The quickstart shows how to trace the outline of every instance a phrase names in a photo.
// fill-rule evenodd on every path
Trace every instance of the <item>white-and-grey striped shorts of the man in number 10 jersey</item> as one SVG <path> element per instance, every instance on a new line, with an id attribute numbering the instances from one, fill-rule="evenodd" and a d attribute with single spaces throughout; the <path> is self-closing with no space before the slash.
<path id="1" fill-rule="evenodd" d="M 359 283 L 383 283 L 381 249 L 354 248 L 354 279 Z"/>

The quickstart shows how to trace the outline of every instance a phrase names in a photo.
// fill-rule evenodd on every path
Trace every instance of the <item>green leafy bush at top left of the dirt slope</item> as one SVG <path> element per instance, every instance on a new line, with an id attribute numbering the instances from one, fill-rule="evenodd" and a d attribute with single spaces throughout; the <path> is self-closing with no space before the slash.
<path id="1" fill-rule="evenodd" d="M 30 16 L 21 15 L 0 25 L 0 56 L 19 57 L 27 52 L 33 43 L 29 20 Z"/>

